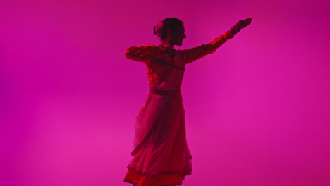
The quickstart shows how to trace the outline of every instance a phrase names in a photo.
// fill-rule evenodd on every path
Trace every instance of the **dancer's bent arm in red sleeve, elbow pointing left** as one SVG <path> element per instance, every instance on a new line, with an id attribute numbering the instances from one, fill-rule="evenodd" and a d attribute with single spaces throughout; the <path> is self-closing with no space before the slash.
<path id="1" fill-rule="evenodd" d="M 145 46 L 132 46 L 126 49 L 125 56 L 134 61 L 151 63 L 154 61 L 154 58 L 157 58 L 157 56 L 154 56 L 152 49 L 153 46 L 151 44 Z"/>

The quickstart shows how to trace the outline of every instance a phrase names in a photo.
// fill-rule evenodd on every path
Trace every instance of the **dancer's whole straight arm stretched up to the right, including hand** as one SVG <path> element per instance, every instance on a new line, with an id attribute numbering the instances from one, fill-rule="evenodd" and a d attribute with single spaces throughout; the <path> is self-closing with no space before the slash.
<path id="1" fill-rule="evenodd" d="M 240 30 L 247 25 L 250 25 L 252 18 L 247 18 L 246 20 L 240 20 L 236 25 L 231 27 L 231 30 L 224 32 L 223 35 L 216 37 L 212 42 L 208 44 L 203 44 L 192 49 L 183 50 L 183 57 L 185 58 L 185 63 L 192 63 L 193 61 L 206 56 L 207 54 L 212 54 L 218 49 L 222 44 L 224 44 L 228 39 L 231 39 Z"/>

